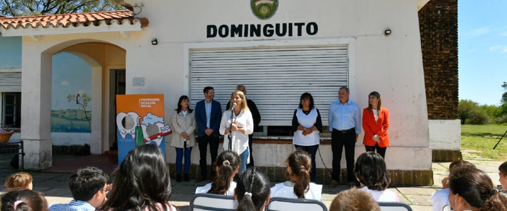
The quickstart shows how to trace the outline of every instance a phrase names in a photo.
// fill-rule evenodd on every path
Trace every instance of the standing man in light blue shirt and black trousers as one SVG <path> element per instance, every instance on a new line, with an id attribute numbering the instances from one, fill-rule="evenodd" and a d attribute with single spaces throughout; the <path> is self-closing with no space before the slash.
<path id="1" fill-rule="evenodd" d="M 340 181 L 340 162 L 343 147 L 347 162 L 347 182 L 356 186 L 354 170 L 354 151 L 357 136 L 361 133 L 361 111 L 359 106 L 349 100 L 349 89 L 341 87 L 338 101 L 329 106 L 329 131 L 331 133 L 331 150 L 333 151 L 333 173 L 330 187 L 336 187 Z"/>

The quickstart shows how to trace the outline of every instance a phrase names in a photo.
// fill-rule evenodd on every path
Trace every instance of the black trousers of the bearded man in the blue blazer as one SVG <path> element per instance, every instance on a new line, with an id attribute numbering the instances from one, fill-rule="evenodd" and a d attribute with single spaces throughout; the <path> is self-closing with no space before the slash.
<path id="1" fill-rule="evenodd" d="M 213 166 L 213 162 L 216 160 L 216 156 L 218 156 L 219 151 L 219 137 L 207 136 L 204 135 L 199 137 L 199 154 L 201 159 L 199 160 L 199 165 L 201 166 L 201 176 L 206 178 L 207 176 L 207 152 L 208 152 L 208 143 L 209 143 L 209 153 L 211 154 L 211 177 L 216 175 Z"/>

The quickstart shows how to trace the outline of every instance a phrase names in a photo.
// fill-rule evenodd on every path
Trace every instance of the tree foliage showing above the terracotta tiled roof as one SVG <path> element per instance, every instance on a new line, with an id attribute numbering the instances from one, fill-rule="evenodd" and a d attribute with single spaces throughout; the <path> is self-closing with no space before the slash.
<path id="1" fill-rule="evenodd" d="M 112 0 L 0 0 L 0 14 L 6 16 L 53 15 L 123 10 Z"/>

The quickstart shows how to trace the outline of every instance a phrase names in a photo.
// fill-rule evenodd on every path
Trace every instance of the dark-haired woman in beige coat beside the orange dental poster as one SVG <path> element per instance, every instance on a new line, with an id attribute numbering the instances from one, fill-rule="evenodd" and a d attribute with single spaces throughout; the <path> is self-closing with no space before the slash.
<path id="1" fill-rule="evenodd" d="M 176 182 L 182 181 L 182 161 L 185 155 L 185 177 L 186 182 L 190 181 L 190 153 L 195 146 L 196 129 L 195 113 L 189 108 L 189 97 L 182 96 L 178 100 L 178 108 L 172 115 L 172 135 L 171 146 L 176 149 Z"/>

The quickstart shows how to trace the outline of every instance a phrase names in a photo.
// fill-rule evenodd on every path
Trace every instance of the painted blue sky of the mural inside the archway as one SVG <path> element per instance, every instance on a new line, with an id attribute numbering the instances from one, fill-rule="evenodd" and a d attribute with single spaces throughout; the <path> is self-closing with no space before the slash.
<path id="1" fill-rule="evenodd" d="M 52 60 L 51 110 L 83 109 L 75 102 L 67 102 L 67 95 L 84 92 L 91 97 L 92 69 L 90 65 L 74 54 L 66 52 L 53 55 Z M 88 103 L 86 110 L 91 110 L 91 102 Z"/>

